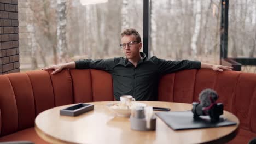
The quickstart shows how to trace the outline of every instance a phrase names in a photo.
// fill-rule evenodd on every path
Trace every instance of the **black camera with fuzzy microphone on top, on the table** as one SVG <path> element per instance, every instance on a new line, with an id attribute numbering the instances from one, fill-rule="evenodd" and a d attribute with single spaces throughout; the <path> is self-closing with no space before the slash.
<path id="1" fill-rule="evenodd" d="M 219 121 L 219 116 L 223 114 L 223 104 L 216 103 L 218 95 L 212 89 L 205 89 L 199 95 L 200 103 L 193 102 L 192 112 L 194 118 L 199 116 L 210 116 L 211 122 Z"/>

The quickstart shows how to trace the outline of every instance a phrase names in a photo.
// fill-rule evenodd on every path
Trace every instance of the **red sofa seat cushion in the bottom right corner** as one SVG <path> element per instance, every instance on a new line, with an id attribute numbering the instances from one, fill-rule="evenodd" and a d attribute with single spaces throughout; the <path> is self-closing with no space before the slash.
<path id="1" fill-rule="evenodd" d="M 255 137 L 256 137 L 256 133 L 253 133 L 252 131 L 248 131 L 248 130 L 243 130 L 240 128 L 236 137 L 231 141 L 229 141 L 228 143 L 229 144 L 248 143 L 251 139 Z"/>

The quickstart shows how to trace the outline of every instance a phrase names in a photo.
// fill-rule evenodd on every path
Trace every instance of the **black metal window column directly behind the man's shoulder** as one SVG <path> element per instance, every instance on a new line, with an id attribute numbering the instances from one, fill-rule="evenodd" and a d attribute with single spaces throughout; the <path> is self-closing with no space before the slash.
<path id="1" fill-rule="evenodd" d="M 143 52 L 150 57 L 150 0 L 143 0 Z"/>

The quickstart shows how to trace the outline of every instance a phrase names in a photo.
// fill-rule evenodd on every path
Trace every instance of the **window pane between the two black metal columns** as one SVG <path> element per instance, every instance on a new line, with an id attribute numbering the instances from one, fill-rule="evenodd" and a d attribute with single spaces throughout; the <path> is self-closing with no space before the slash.
<path id="1" fill-rule="evenodd" d="M 152 55 L 219 64 L 220 1 L 152 1 Z"/>

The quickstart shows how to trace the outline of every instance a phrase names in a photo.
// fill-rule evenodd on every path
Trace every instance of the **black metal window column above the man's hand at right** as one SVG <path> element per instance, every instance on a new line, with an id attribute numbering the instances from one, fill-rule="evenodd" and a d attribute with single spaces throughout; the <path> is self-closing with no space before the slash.
<path id="1" fill-rule="evenodd" d="M 220 64 L 222 64 L 222 59 L 228 58 L 229 0 L 220 1 L 222 2 L 220 21 Z"/>

